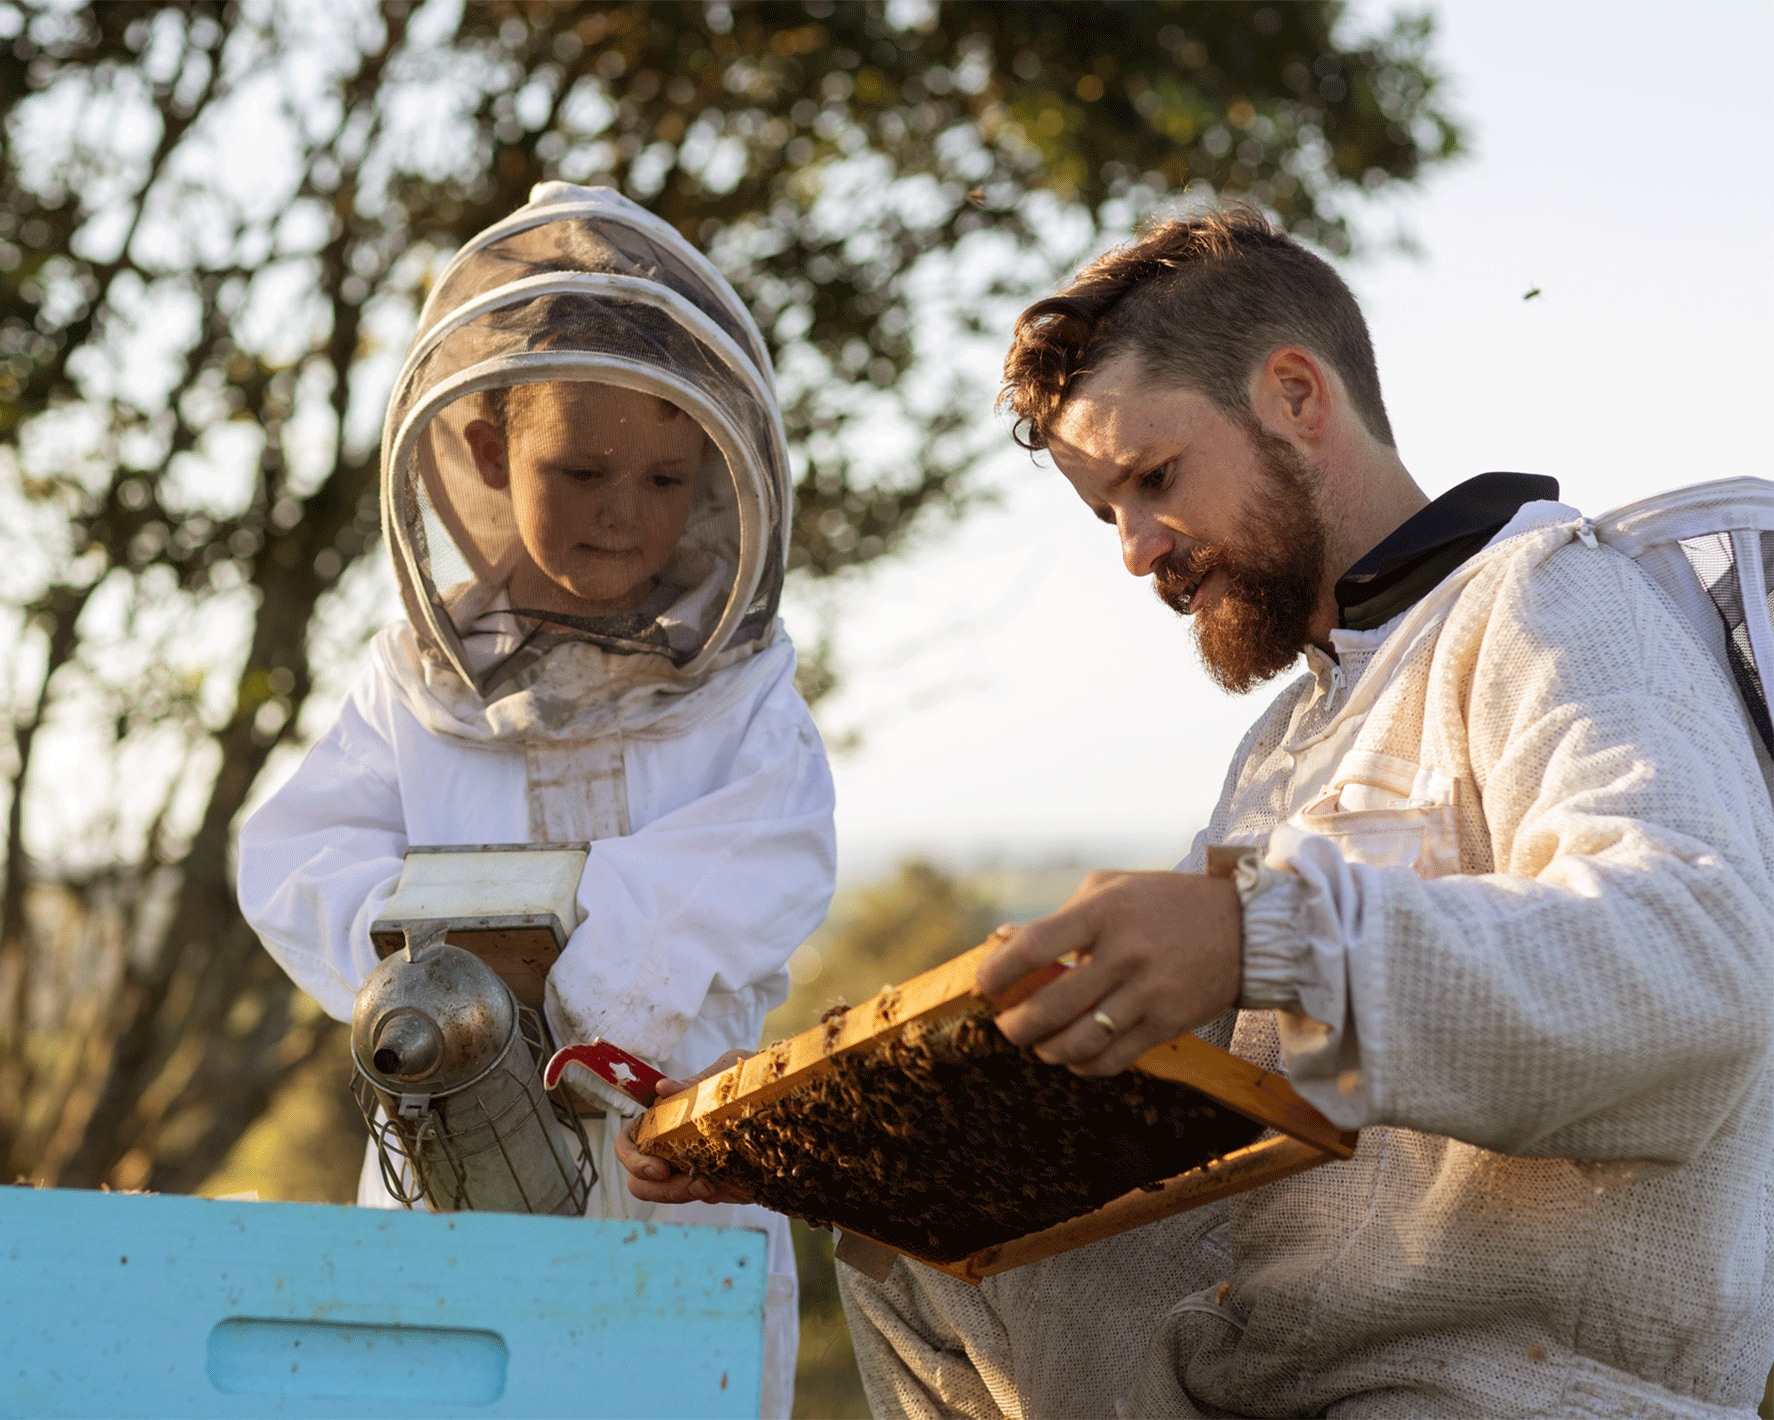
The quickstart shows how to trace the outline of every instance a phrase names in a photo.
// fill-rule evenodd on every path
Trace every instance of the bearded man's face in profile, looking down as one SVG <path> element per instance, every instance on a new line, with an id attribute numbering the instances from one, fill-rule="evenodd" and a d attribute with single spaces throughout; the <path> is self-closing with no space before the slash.
<path id="1" fill-rule="evenodd" d="M 1059 412 L 1048 451 L 1121 534 L 1121 557 L 1192 616 L 1201 660 L 1244 692 L 1311 639 L 1325 570 L 1320 477 L 1286 440 L 1205 394 L 1111 360 Z"/>

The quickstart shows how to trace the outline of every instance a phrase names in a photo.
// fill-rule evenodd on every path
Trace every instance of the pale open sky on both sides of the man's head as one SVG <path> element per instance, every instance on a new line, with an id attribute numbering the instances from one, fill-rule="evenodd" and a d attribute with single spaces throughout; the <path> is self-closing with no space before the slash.
<path id="1" fill-rule="evenodd" d="M 1774 476 L 1753 353 L 1774 314 L 1774 7 L 1433 9 L 1472 156 L 1398 208 L 1421 261 L 1345 266 L 1417 481 L 1552 474 L 1600 513 Z M 1057 472 L 1006 456 L 993 476 L 1002 508 L 850 598 L 850 682 L 821 706 L 830 731 L 862 730 L 834 763 L 846 879 L 912 852 L 1174 861 L 1274 694 L 1205 680 L 1185 623 Z"/>

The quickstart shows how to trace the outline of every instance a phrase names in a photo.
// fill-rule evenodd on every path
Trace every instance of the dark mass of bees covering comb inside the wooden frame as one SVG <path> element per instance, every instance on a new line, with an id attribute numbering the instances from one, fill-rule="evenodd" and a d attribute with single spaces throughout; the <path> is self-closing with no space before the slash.
<path id="1" fill-rule="evenodd" d="M 788 1093 L 711 1120 L 676 1157 L 777 1212 L 953 1262 L 1261 1131 L 1187 1085 L 1047 1065 L 976 1010 L 839 1056 Z"/>

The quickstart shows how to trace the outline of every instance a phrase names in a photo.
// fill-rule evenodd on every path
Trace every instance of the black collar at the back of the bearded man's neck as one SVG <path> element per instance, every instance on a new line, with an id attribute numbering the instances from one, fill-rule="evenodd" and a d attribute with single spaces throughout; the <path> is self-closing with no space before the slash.
<path id="1" fill-rule="evenodd" d="M 1405 518 L 1336 584 L 1338 625 L 1371 630 L 1421 602 L 1529 502 L 1558 501 L 1543 474 L 1480 474 Z"/>

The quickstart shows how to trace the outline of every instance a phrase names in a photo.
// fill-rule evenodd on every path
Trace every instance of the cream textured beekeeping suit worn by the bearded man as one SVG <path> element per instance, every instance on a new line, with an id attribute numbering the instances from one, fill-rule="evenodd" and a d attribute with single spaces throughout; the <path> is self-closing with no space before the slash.
<path id="1" fill-rule="evenodd" d="M 1355 1156 L 979 1287 L 841 1267 L 875 1413 L 1751 1420 L 1770 573 L 1765 483 L 1535 499 L 1309 648 L 1180 866 L 1249 850 L 1201 1035 Z"/>

